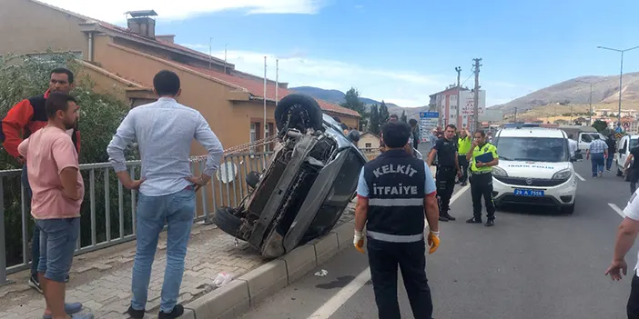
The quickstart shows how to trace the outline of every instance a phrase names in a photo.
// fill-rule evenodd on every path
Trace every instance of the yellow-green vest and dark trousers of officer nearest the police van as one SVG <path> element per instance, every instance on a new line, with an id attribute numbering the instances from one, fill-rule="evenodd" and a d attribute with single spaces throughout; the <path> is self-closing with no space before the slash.
<path id="1" fill-rule="evenodd" d="M 471 194 L 472 194 L 472 218 L 468 223 L 482 223 L 482 197 L 486 204 L 488 221 L 487 226 L 492 226 L 495 219 L 495 204 L 492 201 L 492 167 L 477 167 L 477 157 L 482 155 L 492 155 L 492 158 L 499 158 L 497 147 L 490 143 L 482 146 L 475 146 L 472 150 L 471 161 Z M 487 162 L 482 162 L 487 163 Z"/>

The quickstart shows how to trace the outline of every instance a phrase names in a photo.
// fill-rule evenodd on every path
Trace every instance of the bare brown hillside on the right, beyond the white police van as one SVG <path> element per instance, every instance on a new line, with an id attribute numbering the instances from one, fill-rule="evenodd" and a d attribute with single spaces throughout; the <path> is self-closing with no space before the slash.
<path id="1" fill-rule="evenodd" d="M 585 83 L 584 83 L 585 82 Z M 495 105 L 504 114 L 524 112 L 538 106 L 569 102 L 585 105 L 589 103 L 590 84 L 593 83 L 593 104 L 615 103 L 619 98 L 619 75 L 581 76 L 545 87 L 530 95 L 514 99 L 504 105 Z M 624 101 L 639 100 L 639 72 L 623 77 L 622 98 Z"/>

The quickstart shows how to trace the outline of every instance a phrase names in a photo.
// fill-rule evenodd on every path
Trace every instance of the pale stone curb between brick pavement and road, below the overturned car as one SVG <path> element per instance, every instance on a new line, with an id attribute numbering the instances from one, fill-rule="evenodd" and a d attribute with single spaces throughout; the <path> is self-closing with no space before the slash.
<path id="1" fill-rule="evenodd" d="M 185 317 L 238 318 L 352 244 L 354 220 L 188 303 Z"/>

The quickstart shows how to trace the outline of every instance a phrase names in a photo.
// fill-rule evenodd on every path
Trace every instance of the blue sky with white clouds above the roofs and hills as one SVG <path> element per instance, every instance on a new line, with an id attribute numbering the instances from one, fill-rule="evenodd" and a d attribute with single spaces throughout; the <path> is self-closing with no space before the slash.
<path id="1" fill-rule="evenodd" d="M 156 34 L 224 58 L 238 70 L 411 107 L 456 84 L 474 85 L 482 58 L 486 105 L 582 75 L 618 75 L 639 45 L 639 1 L 44 0 L 126 26 L 125 12 L 156 10 Z M 456 5 L 451 5 L 451 4 Z M 639 49 L 624 72 L 639 70 Z"/>

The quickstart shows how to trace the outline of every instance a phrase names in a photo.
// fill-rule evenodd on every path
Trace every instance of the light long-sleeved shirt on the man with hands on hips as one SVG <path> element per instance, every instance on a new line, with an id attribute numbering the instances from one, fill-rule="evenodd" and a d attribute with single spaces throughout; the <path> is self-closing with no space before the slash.
<path id="1" fill-rule="evenodd" d="M 157 102 L 140 105 L 128 112 L 117 128 L 116 135 L 106 147 L 109 162 L 116 172 L 125 171 L 124 151 L 127 145 L 137 141 L 142 157 L 142 174 L 147 180 L 140 186 L 140 193 L 147 196 L 175 194 L 190 182 L 191 143 L 195 138 L 208 151 L 204 174 L 212 175 L 224 154 L 207 120 L 188 106 L 176 100 L 160 97 Z"/>

